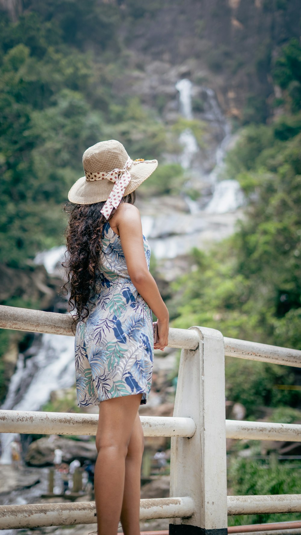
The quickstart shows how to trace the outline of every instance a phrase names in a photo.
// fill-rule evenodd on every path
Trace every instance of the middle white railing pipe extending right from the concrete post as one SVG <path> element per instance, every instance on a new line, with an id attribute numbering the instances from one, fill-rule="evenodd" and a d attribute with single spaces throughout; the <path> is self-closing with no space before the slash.
<path id="1" fill-rule="evenodd" d="M 247 440 L 300 442 L 301 425 L 226 420 L 226 437 Z"/>

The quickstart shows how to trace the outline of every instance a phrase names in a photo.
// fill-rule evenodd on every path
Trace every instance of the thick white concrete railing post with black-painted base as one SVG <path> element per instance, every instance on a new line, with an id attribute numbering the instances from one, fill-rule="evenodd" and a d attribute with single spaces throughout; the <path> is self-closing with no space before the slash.
<path id="1" fill-rule="evenodd" d="M 219 331 L 190 327 L 199 346 L 181 351 L 174 416 L 196 423 L 192 438 L 171 439 L 171 496 L 191 496 L 196 513 L 173 519 L 170 535 L 227 535 L 225 352 Z"/>

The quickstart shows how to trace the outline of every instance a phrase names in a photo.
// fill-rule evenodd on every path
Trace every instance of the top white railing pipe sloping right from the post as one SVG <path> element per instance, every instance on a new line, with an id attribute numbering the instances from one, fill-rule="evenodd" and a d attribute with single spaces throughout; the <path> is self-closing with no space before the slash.
<path id="1" fill-rule="evenodd" d="M 249 342 L 227 337 L 223 338 L 223 343 L 226 356 L 301 368 L 301 351 L 299 349 L 269 346 L 266 343 Z"/>

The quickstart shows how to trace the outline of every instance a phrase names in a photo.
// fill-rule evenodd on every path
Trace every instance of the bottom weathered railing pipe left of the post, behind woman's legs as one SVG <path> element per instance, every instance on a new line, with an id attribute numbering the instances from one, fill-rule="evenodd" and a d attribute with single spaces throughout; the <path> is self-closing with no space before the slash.
<path id="1" fill-rule="evenodd" d="M 192 498 L 140 500 L 140 520 L 181 518 L 194 514 Z M 40 528 L 96 523 L 95 502 L 0 506 L 0 529 Z"/>

